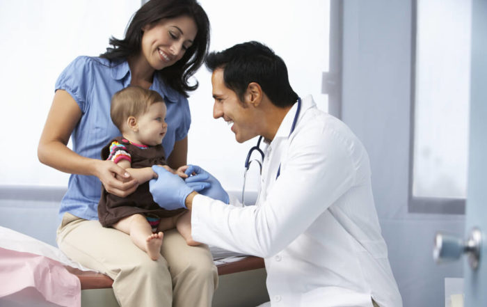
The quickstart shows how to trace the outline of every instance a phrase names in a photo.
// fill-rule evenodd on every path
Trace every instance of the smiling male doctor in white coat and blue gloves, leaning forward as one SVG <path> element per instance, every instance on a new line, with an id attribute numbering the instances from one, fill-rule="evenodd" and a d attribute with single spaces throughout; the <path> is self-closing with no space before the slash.
<path id="1" fill-rule="evenodd" d="M 233 123 L 239 143 L 264 138 L 257 203 L 239 206 L 199 166 L 186 182 L 154 166 L 154 200 L 191 210 L 195 241 L 264 258 L 273 307 L 401 307 L 362 143 L 312 97 L 294 93 L 268 47 L 235 45 L 206 65 L 214 118 Z"/>

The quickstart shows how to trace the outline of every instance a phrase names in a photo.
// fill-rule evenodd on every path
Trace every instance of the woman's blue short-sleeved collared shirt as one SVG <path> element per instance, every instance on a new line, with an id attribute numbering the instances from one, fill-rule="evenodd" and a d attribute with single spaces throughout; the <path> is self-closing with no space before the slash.
<path id="1" fill-rule="evenodd" d="M 65 68 L 56 81 L 56 90 L 66 90 L 79 105 L 82 115 L 71 134 L 72 150 L 83 157 L 101 159 L 100 152 L 120 131 L 110 118 L 111 97 L 130 85 L 129 63 L 111 63 L 105 58 L 79 56 Z M 184 139 L 191 125 L 188 100 L 154 77 L 151 90 L 166 102 L 168 132 L 162 141 L 166 157 L 175 141 Z M 98 219 L 97 206 L 101 182 L 95 176 L 70 176 L 67 192 L 61 200 L 59 217 L 70 212 L 83 219 Z"/>

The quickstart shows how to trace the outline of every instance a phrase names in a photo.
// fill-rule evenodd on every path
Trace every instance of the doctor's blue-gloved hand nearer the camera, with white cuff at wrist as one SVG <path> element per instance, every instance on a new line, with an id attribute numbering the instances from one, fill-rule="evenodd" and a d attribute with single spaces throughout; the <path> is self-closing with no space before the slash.
<path id="1" fill-rule="evenodd" d="M 152 171 L 159 176 L 149 181 L 149 190 L 154 201 L 166 210 L 186 208 L 186 197 L 195 189 L 187 186 L 182 178 L 166 168 L 154 165 Z"/>

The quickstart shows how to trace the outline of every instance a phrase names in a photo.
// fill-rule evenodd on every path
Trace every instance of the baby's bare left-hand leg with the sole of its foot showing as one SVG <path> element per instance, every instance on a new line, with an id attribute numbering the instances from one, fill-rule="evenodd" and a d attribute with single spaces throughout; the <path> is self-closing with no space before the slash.
<path id="1" fill-rule="evenodd" d="M 157 260 L 160 255 L 163 233 L 152 233 L 149 222 L 142 214 L 134 214 L 121 219 L 113 225 L 113 228 L 130 235 L 132 242 L 139 249 L 147 252 L 152 260 Z"/>

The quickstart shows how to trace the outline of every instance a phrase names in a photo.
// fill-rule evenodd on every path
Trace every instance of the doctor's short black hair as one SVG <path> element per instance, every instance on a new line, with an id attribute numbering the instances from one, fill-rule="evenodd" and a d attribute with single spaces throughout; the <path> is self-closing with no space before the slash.
<path id="1" fill-rule="evenodd" d="M 277 107 L 289 107 L 298 100 L 289 84 L 286 64 L 260 42 L 244 42 L 222 52 L 211 52 L 205 65 L 211 72 L 223 68 L 225 86 L 233 90 L 241 102 L 251 82 L 259 84 Z"/>

